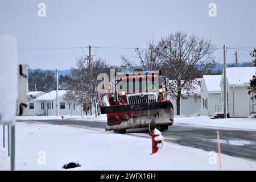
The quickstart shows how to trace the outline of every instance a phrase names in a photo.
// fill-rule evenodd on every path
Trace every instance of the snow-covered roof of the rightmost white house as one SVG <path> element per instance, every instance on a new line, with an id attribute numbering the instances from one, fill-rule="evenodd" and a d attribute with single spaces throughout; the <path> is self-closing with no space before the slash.
<path id="1" fill-rule="evenodd" d="M 256 67 L 226 68 L 226 78 L 229 85 L 243 86 L 255 75 Z"/>

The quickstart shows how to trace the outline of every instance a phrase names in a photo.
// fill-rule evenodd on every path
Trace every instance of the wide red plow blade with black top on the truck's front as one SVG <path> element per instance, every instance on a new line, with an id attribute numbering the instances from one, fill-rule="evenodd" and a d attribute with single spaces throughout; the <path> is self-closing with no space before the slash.
<path id="1" fill-rule="evenodd" d="M 108 116 L 106 130 L 148 127 L 149 122 L 151 127 L 168 126 L 174 121 L 170 101 L 101 107 L 101 113 Z"/>

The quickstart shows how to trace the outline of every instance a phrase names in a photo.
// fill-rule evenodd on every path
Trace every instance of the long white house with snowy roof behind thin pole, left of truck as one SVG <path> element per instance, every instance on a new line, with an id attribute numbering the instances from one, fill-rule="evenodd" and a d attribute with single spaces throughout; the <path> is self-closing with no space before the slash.
<path id="1" fill-rule="evenodd" d="M 58 91 L 59 115 L 80 115 L 81 105 L 64 100 L 66 90 Z M 46 93 L 36 99 L 36 115 L 56 115 L 56 90 Z"/>

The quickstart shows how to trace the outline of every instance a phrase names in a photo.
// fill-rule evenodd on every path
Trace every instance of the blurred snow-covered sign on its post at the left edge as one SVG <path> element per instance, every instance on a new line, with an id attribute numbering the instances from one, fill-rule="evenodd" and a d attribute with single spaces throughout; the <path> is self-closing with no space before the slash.
<path id="1" fill-rule="evenodd" d="M 15 129 L 15 115 L 18 100 L 18 51 L 16 38 L 0 36 L 0 124 Z M 27 93 L 26 96 L 27 97 Z M 26 100 L 27 101 L 27 100 Z M 26 102 L 27 103 L 27 102 Z M 26 107 L 26 103 L 19 107 Z M 11 132 L 11 170 L 15 169 L 15 133 Z"/>

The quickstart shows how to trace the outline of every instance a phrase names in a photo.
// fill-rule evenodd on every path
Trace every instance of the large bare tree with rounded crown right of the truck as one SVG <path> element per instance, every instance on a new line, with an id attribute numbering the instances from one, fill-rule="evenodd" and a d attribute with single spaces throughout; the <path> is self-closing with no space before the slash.
<path id="1" fill-rule="evenodd" d="M 187 35 L 178 31 L 162 38 L 158 43 L 158 51 L 164 61 L 165 71 L 174 80 L 176 90 L 176 110 L 180 115 L 181 92 L 192 86 L 193 80 L 201 72 L 213 67 L 213 52 L 216 48 L 210 40 L 196 35 Z"/>

